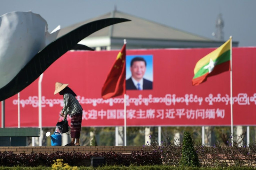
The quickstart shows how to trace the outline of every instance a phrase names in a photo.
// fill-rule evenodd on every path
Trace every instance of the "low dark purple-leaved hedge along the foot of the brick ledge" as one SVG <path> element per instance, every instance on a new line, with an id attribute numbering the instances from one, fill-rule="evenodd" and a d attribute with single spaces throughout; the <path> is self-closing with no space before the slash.
<path id="1" fill-rule="evenodd" d="M 0 152 L 0 166 L 14 167 L 37 167 L 45 165 L 50 167 L 57 159 L 63 159 L 63 163 L 71 166 L 90 165 L 91 157 L 105 157 L 107 165 L 161 165 L 161 154 L 158 152 L 132 151 L 131 154 L 115 152 L 86 153 L 61 152 L 51 154 L 31 153 L 14 154 L 13 152 Z"/>

